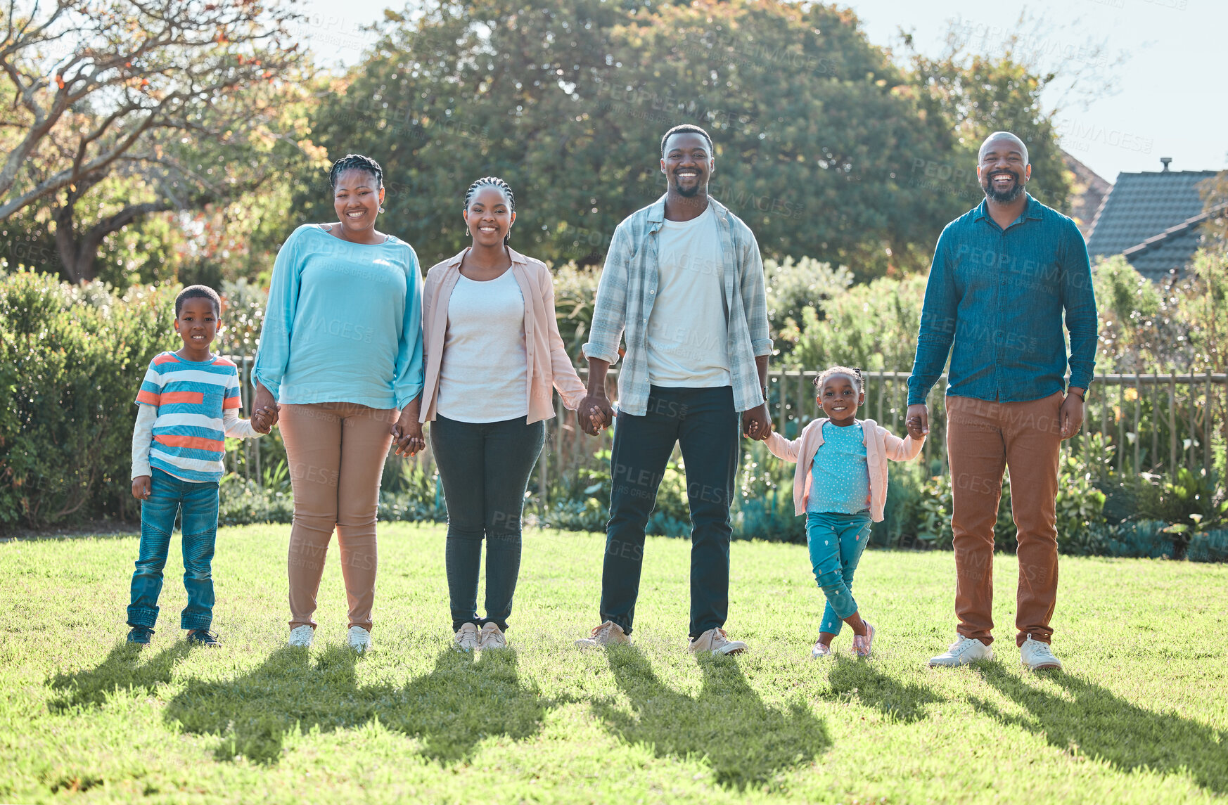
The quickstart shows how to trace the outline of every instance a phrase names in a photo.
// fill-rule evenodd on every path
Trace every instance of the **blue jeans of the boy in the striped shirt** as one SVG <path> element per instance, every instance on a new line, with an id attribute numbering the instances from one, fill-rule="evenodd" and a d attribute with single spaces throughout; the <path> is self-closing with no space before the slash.
<path id="1" fill-rule="evenodd" d="M 162 591 L 162 568 L 171 549 L 176 514 L 183 513 L 183 587 L 188 606 L 179 615 L 179 628 L 209 628 L 214 621 L 214 545 L 217 541 L 217 483 L 182 481 L 155 468 L 150 497 L 141 503 L 141 552 L 133 573 L 128 625 L 157 622 L 157 596 Z"/>

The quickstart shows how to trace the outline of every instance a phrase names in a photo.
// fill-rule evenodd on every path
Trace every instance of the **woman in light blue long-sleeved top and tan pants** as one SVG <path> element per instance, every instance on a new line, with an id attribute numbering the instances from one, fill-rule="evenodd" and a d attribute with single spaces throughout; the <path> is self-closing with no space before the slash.
<path id="1" fill-rule="evenodd" d="M 295 517 L 290 530 L 290 644 L 311 645 L 328 542 L 336 529 L 349 599 L 349 644 L 371 647 L 379 475 L 425 447 L 421 272 L 404 241 L 376 229 L 383 171 L 346 155 L 329 172 L 338 221 L 286 239 L 273 269 L 255 357 L 255 406 L 280 404 Z M 398 414 L 399 409 L 399 414 Z"/>

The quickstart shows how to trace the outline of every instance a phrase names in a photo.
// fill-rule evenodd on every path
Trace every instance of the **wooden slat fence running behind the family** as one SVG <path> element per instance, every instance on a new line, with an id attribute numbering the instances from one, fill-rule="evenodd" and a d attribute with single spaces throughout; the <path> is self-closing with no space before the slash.
<path id="1" fill-rule="evenodd" d="M 252 358 L 235 356 L 244 387 L 243 415 L 249 414 L 252 400 Z M 583 378 L 586 371 L 581 369 Z M 772 426 L 792 438 L 819 409 L 814 402 L 817 372 L 776 369 L 769 372 L 769 409 Z M 862 417 L 872 417 L 893 433 L 904 434 L 907 410 L 907 372 L 866 372 L 866 404 Z M 615 398 L 618 371 L 610 369 L 607 393 Z M 941 389 L 943 376 L 930 393 L 930 438 L 925 445 L 925 461 L 935 471 L 946 471 L 946 406 Z M 1226 395 L 1228 374 L 1104 374 L 1095 378 L 1088 394 L 1086 418 L 1081 436 L 1067 442 L 1066 449 L 1078 453 L 1099 450 L 1111 456 L 1100 461 L 1104 471 L 1111 466 L 1119 472 L 1169 472 L 1186 466 L 1210 471 L 1213 445 L 1224 444 L 1228 437 Z M 583 433 L 576 415 L 555 399 L 556 416 L 548 422 L 546 445 L 538 461 L 538 488 L 550 490 L 558 475 L 573 477 L 580 468 L 597 468 L 594 458 L 609 449 L 610 431 L 598 436 Z M 231 465 L 257 482 L 262 480 L 260 450 L 244 439 L 232 453 Z M 402 460 L 402 459 L 394 459 Z M 433 472 L 430 448 L 411 461 Z"/>

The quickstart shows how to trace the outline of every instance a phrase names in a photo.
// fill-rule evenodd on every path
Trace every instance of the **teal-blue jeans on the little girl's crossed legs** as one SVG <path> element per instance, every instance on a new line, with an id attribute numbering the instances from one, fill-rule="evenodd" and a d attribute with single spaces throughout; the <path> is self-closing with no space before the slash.
<path id="1" fill-rule="evenodd" d="M 867 512 L 807 513 L 806 542 L 810 549 L 810 567 L 814 569 L 814 580 L 828 596 L 820 631 L 839 634 L 844 618 L 857 611 L 857 601 L 852 598 L 852 576 L 868 541 Z"/>

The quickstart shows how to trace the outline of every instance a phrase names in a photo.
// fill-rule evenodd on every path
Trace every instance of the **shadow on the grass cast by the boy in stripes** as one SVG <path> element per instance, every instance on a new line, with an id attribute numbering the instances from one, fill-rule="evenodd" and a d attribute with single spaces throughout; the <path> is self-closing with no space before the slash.
<path id="1" fill-rule="evenodd" d="M 146 652 L 149 649 L 145 649 Z M 53 713 L 63 713 L 74 707 L 97 707 L 115 690 L 139 690 L 152 693 L 158 685 L 171 681 L 174 666 L 192 650 L 187 641 L 177 641 L 157 654 L 144 655 L 141 648 L 115 643 L 111 653 L 97 668 L 75 674 L 56 674 L 50 680 L 52 690 L 59 695 L 47 702 Z"/>

